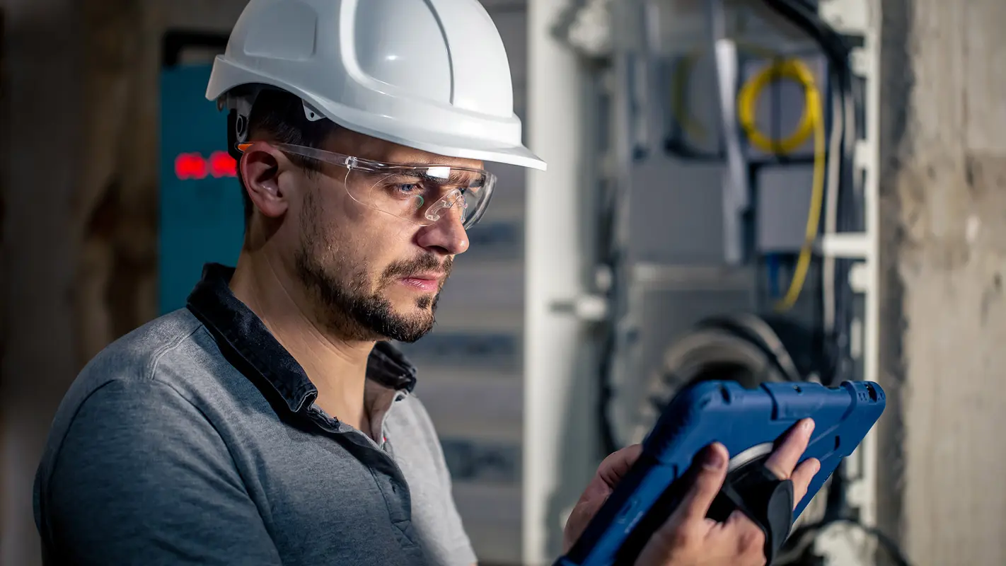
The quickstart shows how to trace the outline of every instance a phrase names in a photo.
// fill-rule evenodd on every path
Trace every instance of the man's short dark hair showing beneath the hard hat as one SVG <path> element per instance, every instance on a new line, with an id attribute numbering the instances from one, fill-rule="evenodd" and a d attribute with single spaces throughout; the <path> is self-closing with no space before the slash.
<path id="1" fill-rule="evenodd" d="M 339 127 L 327 118 L 311 122 L 304 116 L 304 103 L 299 97 L 286 90 L 266 88 L 259 92 L 248 116 L 248 141 L 269 139 L 282 144 L 307 146 L 321 149 Z M 321 164 L 313 159 L 290 156 L 291 161 L 308 171 L 321 170 Z M 244 201 L 244 227 L 247 229 L 254 204 L 244 186 L 244 179 L 238 170 L 237 181 Z"/>

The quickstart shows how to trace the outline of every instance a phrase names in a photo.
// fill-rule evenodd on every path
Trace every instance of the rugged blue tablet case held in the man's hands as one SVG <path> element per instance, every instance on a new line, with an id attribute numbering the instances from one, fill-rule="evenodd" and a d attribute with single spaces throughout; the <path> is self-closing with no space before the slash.
<path id="1" fill-rule="evenodd" d="M 846 381 L 838 387 L 763 383 L 753 389 L 732 381 L 691 385 L 664 409 L 643 441 L 639 460 L 555 564 L 609 566 L 634 557 L 676 507 L 687 486 L 675 481 L 705 446 L 722 442 L 731 458 L 745 451 L 768 451 L 798 420 L 810 417 L 816 426 L 801 461 L 816 457 L 821 469 L 797 505 L 795 521 L 842 458 L 862 442 L 884 405 L 883 390 L 869 381 Z"/>

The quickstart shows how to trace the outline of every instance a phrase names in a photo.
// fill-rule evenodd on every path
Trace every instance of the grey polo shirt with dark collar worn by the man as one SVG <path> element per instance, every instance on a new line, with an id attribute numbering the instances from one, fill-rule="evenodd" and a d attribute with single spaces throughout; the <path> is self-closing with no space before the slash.
<path id="1" fill-rule="evenodd" d="M 370 436 L 207 265 L 188 308 L 117 341 L 56 413 L 35 480 L 46 564 L 466 565 L 415 370 L 378 344 Z"/>

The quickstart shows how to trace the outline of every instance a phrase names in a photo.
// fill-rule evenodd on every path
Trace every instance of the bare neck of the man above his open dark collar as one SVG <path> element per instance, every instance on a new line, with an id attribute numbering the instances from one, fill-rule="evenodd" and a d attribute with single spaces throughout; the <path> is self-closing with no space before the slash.
<path id="1" fill-rule="evenodd" d="M 264 254 L 240 254 L 230 290 L 304 368 L 318 388 L 317 405 L 369 433 L 363 391 L 374 343 L 332 336 L 319 322 L 301 286 Z"/>

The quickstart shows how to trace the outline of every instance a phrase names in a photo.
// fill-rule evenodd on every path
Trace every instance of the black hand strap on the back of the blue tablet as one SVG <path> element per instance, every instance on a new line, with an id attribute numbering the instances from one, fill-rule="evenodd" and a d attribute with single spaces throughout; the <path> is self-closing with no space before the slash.
<path id="1" fill-rule="evenodd" d="M 745 466 L 730 473 L 707 517 L 723 522 L 738 510 L 765 533 L 766 564 L 779 553 L 793 527 L 793 482 L 780 480 L 765 465 Z"/>

